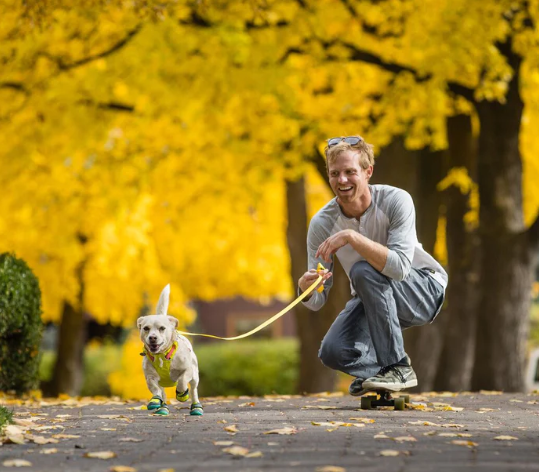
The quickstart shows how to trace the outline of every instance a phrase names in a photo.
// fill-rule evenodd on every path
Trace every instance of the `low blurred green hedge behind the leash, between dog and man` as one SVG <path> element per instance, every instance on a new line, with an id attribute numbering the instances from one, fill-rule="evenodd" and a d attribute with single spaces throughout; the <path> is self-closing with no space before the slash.
<path id="1" fill-rule="evenodd" d="M 298 380 L 299 352 L 295 339 L 197 344 L 199 394 L 292 394 Z"/>

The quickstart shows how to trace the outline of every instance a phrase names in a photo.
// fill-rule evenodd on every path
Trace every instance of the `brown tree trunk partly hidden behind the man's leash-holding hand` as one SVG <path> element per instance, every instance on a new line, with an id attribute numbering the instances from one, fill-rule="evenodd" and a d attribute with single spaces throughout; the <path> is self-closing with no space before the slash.
<path id="1" fill-rule="evenodd" d="M 288 205 L 287 238 L 290 250 L 291 272 L 294 287 L 307 270 L 307 207 L 303 178 L 286 183 Z M 300 375 L 298 391 L 314 393 L 335 388 L 336 372 L 325 367 L 318 359 L 322 338 L 337 314 L 350 298 L 348 277 L 338 261 L 334 266 L 334 283 L 329 298 L 319 311 L 311 311 L 302 304 L 294 308 L 300 340 Z M 339 270 L 340 269 L 340 270 Z"/>

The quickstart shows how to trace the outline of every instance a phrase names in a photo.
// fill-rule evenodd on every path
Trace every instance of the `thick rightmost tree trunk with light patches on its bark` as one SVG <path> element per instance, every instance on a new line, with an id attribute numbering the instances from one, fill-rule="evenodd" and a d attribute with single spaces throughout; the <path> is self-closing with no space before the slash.
<path id="1" fill-rule="evenodd" d="M 514 71 L 506 103 L 476 104 L 482 254 L 472 388 L 516 392 L 524 388 L 533 255 L 522 214 L 521 58 L 509 40 L 499 49 Z"/>

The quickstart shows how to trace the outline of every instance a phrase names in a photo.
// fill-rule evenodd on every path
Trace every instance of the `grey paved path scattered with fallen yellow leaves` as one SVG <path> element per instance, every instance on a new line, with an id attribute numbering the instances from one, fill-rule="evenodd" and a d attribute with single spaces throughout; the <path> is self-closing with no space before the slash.
<path id="1" fill-rule="evenodd" d="M 27 434 L 78 437 L 5 443 L 0 470 L 24 459 L 32 466 L 23 470 L 40 471 L 539 471 L 539 395 L 424 394 L 412 402 L 405 411 L 365 411 L 349 396 L 208 398 L 203 417 L 176 402 L 168 417 L 133 409 L 141 402 L 27 403 L 14 406 L 16 418 L 54 427 Z M 275 429 L 293 434 L 266 434 Z M 225 451 L 232 446 L 252 457 Z M 84 457 L 99 451 L 116 457 Z"/>

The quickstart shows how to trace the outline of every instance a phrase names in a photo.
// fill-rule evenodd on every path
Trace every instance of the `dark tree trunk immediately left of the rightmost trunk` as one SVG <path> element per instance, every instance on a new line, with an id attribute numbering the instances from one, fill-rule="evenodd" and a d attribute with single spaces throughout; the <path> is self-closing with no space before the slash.
<path id="1" fill-rule="evenodd" d="M 469 115 L 447 120 L 449 167 L 464 167 L 475 181 L 476 146 Z M 456 186 L 443 195 L 446 202 L 449 285 L 447 308 L 440 319 L 443 350 L 434 383 L 435 390 L 470 388 L 475 356 L 479 248 L 477 231 L 464 222 L 470 195 Z"/>

